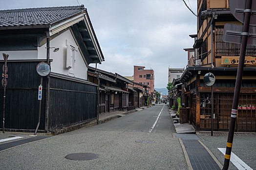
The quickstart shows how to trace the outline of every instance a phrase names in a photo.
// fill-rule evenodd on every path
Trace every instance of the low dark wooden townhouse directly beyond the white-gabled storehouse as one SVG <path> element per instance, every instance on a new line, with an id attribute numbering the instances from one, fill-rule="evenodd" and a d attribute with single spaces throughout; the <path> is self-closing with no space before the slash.
<path id="1" fill-rule="evenodd" d="M 133 82 L 118 73 L 111 73 L 93 67 L 88 68 L 88 81 L 99 84 L 100 82 L 100 109 L 99 113 L 108 113 L 120 109 L 128 109 L 134 105 Z M 131 108 L 131 107 L 130 107 Z"/>

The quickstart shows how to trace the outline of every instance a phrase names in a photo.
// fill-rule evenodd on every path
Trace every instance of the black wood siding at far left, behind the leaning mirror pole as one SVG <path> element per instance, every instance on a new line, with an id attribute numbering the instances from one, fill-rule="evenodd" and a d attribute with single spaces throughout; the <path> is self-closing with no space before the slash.
<path id="1" fill-rule="evenodd" d="M 5 101 L 5 128 L 35 130 L 38 123 L 39 101 L 38 86 L 40 76 L 36 66 L 40 61 L 7 62 L 8 84 Z M 0 63 L 0 67 L 3 62 Z M 39 130 L 44 130 L 45 118 L 45 87 L 43 78 L 43 96 L 41 123 Z M 2 127 L 3 87 L 0 85 L 0 127 Z"/>

